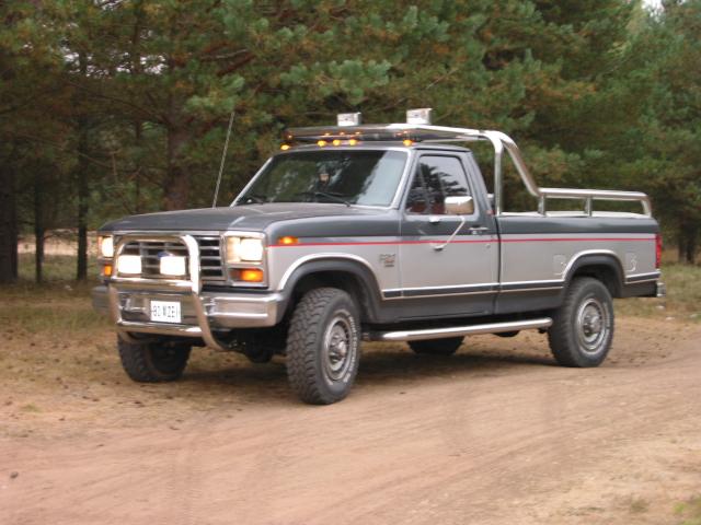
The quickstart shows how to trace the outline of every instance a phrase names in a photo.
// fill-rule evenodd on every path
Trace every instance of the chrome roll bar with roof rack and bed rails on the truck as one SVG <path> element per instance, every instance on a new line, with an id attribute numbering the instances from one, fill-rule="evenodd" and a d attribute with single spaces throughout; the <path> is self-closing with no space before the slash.
<path id="1" fill-rule="evenodd" d="M 494 212 L 499 215 L 504 208 L 504 180 L 502 162 L 504 151 L 508 153 L 526 189 L 538 199 L 538 212 L 548 213 L 548 199 L 583 199 L 585 213 L 594 213 L 595 200 L 636 201 L 643 208 L 643 214 L 652 215 L 652 206 L 647 195 L 641 191 L 618 191 L 606 189 L 541 188 L 536 184 L 528 166 L 524 162 L 516 142 L 502 131 L 489 131 L 470 128 L 417 124 L 375 124 L 359 126 L 333 126 L 291 128 L 284 133 L 288 142 L 315 142 L 318 140 L 350 139 L 361 141 L 402 141 L 420 142 L 474 142 L 489 141 L 494 148 Z"/>

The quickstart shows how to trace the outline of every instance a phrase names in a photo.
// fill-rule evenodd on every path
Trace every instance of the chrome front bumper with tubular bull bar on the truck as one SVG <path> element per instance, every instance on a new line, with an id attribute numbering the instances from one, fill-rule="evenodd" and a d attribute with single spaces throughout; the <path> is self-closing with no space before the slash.
<path id="1" fill-rule="evenodd" d="M 125 236 L 115 247 L 115 258 L 131 238 Z M 226 349 L 218 332 L 235 328 L 274 326 L 283 317 L 285 301 L 279 293 L 226 293 L 203 291 L 199 279 L 199 247 L 189 235 L 149 235 L 148 240 L 182 242 L 188 252 L 188 279 L 149 279 L 114 276 L 106 285 L 92 291 L 95 310 L 108 313 L 120 337 L 135 340 L 131 334 L 157 334 L 200 338 L 209 347 Z M 150 320 L 150 301 L 181 303 L 182 323 Z"/>

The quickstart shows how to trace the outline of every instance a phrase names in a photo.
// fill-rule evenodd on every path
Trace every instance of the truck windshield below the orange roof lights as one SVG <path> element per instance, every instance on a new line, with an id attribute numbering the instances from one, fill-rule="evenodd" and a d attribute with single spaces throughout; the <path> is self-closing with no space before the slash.
<path id="1" fill-rule="evenodd" d="M 273 158 L 239 205 L 263 202 L 392 203 L 402 177 L 402 151 L 304 151 Z"/>

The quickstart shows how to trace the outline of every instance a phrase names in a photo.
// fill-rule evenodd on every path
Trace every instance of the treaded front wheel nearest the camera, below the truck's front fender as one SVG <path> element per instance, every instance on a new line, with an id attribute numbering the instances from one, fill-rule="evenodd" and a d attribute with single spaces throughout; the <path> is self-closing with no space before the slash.
<path id="1" fill-rule="evenodd" d="M 330 405 L 348 395 L 358 371 L 357 307 L 343 290 L 318 288 L 297 304 L 287 336 L 287 376 L 299 398 Z"/>

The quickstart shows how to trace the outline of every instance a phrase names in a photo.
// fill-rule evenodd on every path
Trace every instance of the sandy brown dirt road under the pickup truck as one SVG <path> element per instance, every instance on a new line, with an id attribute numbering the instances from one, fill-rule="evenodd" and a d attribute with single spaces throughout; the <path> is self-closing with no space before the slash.
<path id="1" fill-rule="evenodd" d="M 677 524 L 701 492 L 699 325 L 620 319 L 593 370 L 537 334 L 371 347 L 330 407 L 299 404 L 281 361 L 202 350 L 139 386 L 111 335 L 14 336 L 2 524 Z"/>

